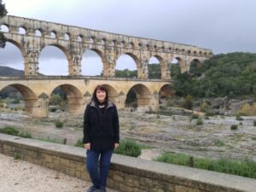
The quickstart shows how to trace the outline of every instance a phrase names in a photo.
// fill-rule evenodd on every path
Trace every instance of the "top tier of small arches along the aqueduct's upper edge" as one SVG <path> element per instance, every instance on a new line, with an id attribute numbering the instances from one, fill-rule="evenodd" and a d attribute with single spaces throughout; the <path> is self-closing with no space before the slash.
<path id="1" fill-rule="evenodd" d="M 12 20 L 8 19 L 10 17 Z M 18 33 L 35 38 L 56 38 L 84 44 L 113 46 L 123 49 L 144 49 L 156 52 L 177 53 L 183 55 L 198 55 L 211 57 L 211 49 L 196 46 L 157 41 L 148 38 L 137 38 L 110 32 L 101 32 L 77 26 L 67 26 L 42 20 L 32 20 L 22 17 L 7 16 L 0 21 L 2 32 Z M 15 19 L 15 21 L 13 21 Z"/>

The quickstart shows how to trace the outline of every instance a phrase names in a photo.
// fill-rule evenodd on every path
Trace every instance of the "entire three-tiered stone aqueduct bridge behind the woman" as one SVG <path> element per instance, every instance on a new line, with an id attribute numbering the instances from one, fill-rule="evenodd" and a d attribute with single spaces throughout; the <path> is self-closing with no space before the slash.
<path id="1" fill-rule="evenodd" d="M 125 108 L 129 90 L 137 94 L 139 108 L 158 109 L 159 97 L 172 95 L 169 63 L 176 58 L 181 71 L 189 71 L 192 61 L 204 61 L 212 56 L 211 49 L 191 45 L 174 44 L 148 38 L 137 38 L 110 32 L 67 26 L 43 20 L 16 16 L 0 19 L 6 26 L 7 41 L 15 44 L 24 58 L 24 78 L 1 78 L 0 90 L 13 86 L 25 100 L 26 112 L 35 117 L 47 117 L 49 96 L 56 87 L 61 87 L 68 97 L 71 113 L 81 113 L 90 101 L 96 84 L 104 84 L 110 99 L 118 108 Z M 24 32 L 20 32 L 20 28 Z M 63 51 L 68 61 L 67 77 L 38 77 L 38 57 L 46 46 L 55 46 Z M 87 49 L 95 51 L 102 59 L 103 78 L 81 76 L 82 55 Z M 137 65 L 137 79 L 114 78 L 116 61 L 120 55 L 130 55 Z M 148 79 L 148 61 L 154 56 L 160 61 L 161 79 Z"/>

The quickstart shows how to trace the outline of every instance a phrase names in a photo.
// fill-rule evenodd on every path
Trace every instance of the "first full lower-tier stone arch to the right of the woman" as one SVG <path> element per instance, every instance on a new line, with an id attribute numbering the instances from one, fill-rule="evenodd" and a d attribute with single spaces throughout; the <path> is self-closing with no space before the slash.
<path id="1" fill-rule="evenodd" d="M 130 91 L 134 91 L 137 99 L 137 108 L 148 110 L 151 100 L 151 92 L 144 84 L 134 84 L 127 92 L 127 96 Z M 125 104 L 127 104 L 128 97 L 126 96 Z"/>

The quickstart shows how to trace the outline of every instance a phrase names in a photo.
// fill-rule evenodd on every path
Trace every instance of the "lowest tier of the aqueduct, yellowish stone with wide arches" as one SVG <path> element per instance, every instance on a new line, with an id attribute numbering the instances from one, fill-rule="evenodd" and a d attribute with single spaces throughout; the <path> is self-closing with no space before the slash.
<path id="1" fill-rule="evenodd" d="M 47 117 L 49 96 L 57 87 L 67 93 L 69 113 L 84 113 L 91 100 L 96 84 L 103 84 L 108 90 L 109 100 L 117 108 L 125 108 L 129 90 L 137 95 L 137 108 L 157 111 L 159 96 L 172 96 L 170 81 L 147 79 L 117 79 L 96 77 L 24 77 L 0 78 L 0 90 L 6 86 L 15 87 L 24 97 L 26 112 L 34 117 Z"/>

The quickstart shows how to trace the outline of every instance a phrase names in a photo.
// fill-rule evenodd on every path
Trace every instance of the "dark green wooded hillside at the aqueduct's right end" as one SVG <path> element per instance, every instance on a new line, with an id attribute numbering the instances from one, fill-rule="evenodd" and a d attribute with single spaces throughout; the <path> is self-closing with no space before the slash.
<path id="1" fill-rule="evenodd" d="M 192 66 L 190 73 L 173 76 L 177 96 L 252 96 L 256 94 L 256 54 L 214 55 L 201 67 Z"/>

